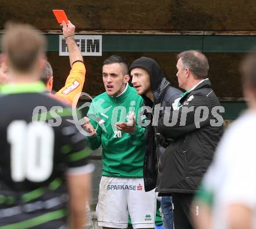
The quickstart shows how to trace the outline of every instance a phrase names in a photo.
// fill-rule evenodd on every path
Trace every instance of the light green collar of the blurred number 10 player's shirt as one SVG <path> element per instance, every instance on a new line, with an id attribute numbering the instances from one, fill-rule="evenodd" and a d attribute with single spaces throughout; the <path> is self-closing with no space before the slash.
<path id="1" fill-rule="evenodd" d="M 44 90 L 45 85 L 40 81 L 34 83 L 8 83 L 0 86 L 1 94 L 44 92 Z"/>

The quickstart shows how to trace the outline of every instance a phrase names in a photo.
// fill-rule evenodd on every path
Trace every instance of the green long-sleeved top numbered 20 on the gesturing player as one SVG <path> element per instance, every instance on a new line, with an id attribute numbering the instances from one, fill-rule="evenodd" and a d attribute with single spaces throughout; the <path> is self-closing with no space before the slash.
<path id="1" fill-rule="evenodd" d="M 87 137 L 89 147 L 96 150 L 102 145 L 102 176 L 143 177 L 145 154 L 145 128 L 140 126 L 143 99 L 127 83 L 117 97 L 99 94 L 91 103 L 88 118 L 97 130 L 97 137 Z M 129 122 L 134 115 L 136 126 L 133 133 L 116 129 L 117 122 Z"/>

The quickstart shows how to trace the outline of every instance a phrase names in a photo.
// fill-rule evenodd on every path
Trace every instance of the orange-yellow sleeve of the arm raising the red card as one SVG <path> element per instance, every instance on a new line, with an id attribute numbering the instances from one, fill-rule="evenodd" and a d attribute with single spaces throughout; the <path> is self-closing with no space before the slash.
<path id="1" fill-rule="evenodd" d="M 68 101 L 70 104 L 77 104 L 80 93 L 83 90 L 84 80 L 86 76 L 86 67 L 81 61 L 73 64 L 69 76 L 66 79 L 65 86 L 58 92 L 56 96 Z M 79 94 L 79 96 L 77 95 Z"/>

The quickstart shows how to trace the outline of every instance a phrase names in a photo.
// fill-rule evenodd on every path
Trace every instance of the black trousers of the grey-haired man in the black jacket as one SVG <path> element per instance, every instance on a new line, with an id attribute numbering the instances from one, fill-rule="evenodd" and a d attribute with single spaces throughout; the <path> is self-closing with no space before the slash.
<path id="1" fill-rule="evenodd" d="M 193 229 L 191 221 L 191 202 L 194 194 L 172 193 L 175 229 Z"/>

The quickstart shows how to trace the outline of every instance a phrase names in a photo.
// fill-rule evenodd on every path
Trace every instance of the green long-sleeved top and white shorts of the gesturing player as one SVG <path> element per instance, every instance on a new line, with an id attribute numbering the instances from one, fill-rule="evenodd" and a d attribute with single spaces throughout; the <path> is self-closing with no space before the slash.
<path id="1" fill-rule="evenodd" d="M 87 137 L 89 147 L 96 150 L 102 145 L 99 226 L 126 228 L 130 213 L 133 228 L 154 228 L 155 191 L 145 192 L 143 181 L 146 143 L 145 129 L 141 126 L 142 106 L 143 99 L 127 83 L 117 97 L 106 92 L 95 97 L 88 111 L 87 116 L 97 130 L 96 137 Z M 116 129 L 117 122 L 129 122 L 133 114 L 136 121 L 133 133 Z"/>

